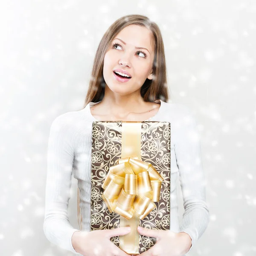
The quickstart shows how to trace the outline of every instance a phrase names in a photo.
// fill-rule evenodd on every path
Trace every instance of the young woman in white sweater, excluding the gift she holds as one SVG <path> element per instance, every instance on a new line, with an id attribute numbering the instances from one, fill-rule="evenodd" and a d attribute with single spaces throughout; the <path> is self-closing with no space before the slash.
<path id="1" fill-rule="evenodd" d="M 168 121 L 171 123 L 170 230 L 138 229 L 156 237 L 144 256 L 182 256 L 201 237 L 209 222 L 205 179 L 196 121 L 182 104 L 167 103 L 169 93 L 163 39 L 156 23 L 127 15 L 107 30 L 96 52 L 84 108 L 64 113 L 52 123 L 48 146 L 44 233 L 54 244 L 84 256 L 128 255 L 110 238 L 127 228 L 90 231 L 91 127 L 95 120 Z M 78 180 L 81 230 L 67 215 L 71 175 Z M 178 221 L 177 177 L 183 193 Z"/>

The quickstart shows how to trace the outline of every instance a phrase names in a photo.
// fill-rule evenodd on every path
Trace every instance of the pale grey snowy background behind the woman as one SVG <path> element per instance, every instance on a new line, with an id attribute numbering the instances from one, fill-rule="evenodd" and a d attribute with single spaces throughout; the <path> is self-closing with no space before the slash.
<path id="1" fill-rule="evenodd" d="M 1 256 L 73 255 L 43 232 L 49 128 L 83 108 L 99 41 L 127 14 L 160 26 L 170 102 L 197 119 L 210 222 L 189 255 L 256 255 L 256 1 L 23 0 L 0 3 Z M 181 190 L 179 204 L 181 220 Z"/>

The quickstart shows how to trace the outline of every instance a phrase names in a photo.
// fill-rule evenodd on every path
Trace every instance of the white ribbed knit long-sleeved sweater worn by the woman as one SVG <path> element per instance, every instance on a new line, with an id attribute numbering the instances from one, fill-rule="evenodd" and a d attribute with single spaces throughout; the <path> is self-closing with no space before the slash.
<path id="1" fill-rule="evenodd" d="M 71 237 L 77 229 L 72 227 L 67 214 L 71 175 L 78 180 L 80 189 L 83 231 L 90 231 L 91 135 L 92 122 L 96 121 L 90 107 L 97 103 L 90 102 L 82 110 L 56 117 L 49 134 L 44 233 L 50 242 L 75 254 L 79 253 L 74 250 Z M 160 103 L 157 114 L 148 120 L 171 123 L 170 230 L 189 234 L 193 247 L 209 223 L 200 137 L 195 117 L 188 107 L 179 103 Z M 178 172 L 185 209 L 180 225 Z"/>

